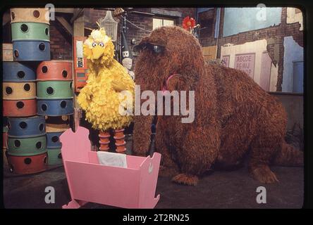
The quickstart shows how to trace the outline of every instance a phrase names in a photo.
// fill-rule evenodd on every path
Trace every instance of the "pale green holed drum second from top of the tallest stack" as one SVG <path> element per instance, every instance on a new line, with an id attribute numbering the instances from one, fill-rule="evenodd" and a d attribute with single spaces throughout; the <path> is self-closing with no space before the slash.
<path id="1" fill-rule="evenodd" d="M 50 41 L 49 25 L 45 23 L 11 23 L 12 41 Z"/>

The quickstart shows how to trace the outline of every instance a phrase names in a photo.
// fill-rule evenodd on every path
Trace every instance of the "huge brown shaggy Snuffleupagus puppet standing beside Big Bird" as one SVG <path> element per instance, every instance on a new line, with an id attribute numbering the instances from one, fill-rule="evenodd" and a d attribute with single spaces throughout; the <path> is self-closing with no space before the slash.
<path id="1" fill-rule="evenodd" d="M 142 49 L 164 46 L 162 53 Z M 141 91 L 161 90 L 169 75 L 169 91 L 195 91 L 195 121 L 158 116 L 156 151 L 161 173 L 173 181 L 195 185 L 215 163 L 238 165 L 250 150 L 249 169 L 263 183 L 278 181 L 269 165 L 302 165 L 302 152 L 284 141 L 287 116 L 283 105 L 240 70 L 205 65 L 197 39 L 180 27 L 160 27 L 140 42 L 135 82 Z M 135 116 L 134 152 L 146 155 L 152 116 Z"/>

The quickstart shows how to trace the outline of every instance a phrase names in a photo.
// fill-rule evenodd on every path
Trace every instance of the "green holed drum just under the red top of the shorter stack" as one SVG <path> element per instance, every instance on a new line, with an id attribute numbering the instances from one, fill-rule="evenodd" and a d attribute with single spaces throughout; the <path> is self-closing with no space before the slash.
<path id="1" fill-rule="evenodd" d="M 73 82 L 72 81 L 37 82 L 37 98 L 39 99 L 73 98 Z"/>

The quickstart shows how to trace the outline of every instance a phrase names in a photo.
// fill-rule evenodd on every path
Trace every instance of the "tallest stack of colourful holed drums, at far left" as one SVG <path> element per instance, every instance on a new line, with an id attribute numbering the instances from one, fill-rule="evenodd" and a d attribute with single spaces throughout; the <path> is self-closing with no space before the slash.
<path id="1" fill-rule="evenodd" d="M 46 130 L 36 116 L 36 70 L 50 60 L 45 8 L 11 8 L 14 62 L 4 62 L 4 116 L 8 117 L 8 164 L 17 174 L 46 169 Z"/>

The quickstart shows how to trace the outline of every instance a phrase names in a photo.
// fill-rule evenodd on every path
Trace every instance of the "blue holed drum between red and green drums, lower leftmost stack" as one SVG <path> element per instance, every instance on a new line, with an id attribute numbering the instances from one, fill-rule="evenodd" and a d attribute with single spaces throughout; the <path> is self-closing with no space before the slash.
<path id="1" fill-rule="evenodd" d="M 8 136 L 10 137 L 33 137 L 46 134 L 44 117 L 9 117 Z"/>

